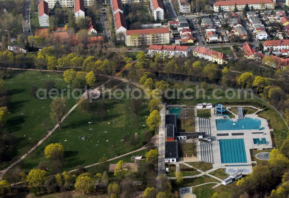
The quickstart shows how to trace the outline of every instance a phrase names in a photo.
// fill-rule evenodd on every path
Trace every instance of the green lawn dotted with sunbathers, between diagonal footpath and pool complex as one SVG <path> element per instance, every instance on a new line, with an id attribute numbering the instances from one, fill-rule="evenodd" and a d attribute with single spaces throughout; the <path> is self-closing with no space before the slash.
<path id="1" fill-rule="evenodd" d="M 23 160 L 22 168 L 29 170 L 36 167 L 43 160 L 45 146 L 50 143 L 60 143 L 65 148 L 65 161 L 62 170 L 72 170 L 77 166 L 97 163 L 99 158 L 104 155 L 110 159 L 115 155 L 122 155 L 135 150 L 134 146 L 126 147 L 125 142 L 121 141 L 122 139 L 128 141 L 135 133 L 138 134 L 140 140 L 136 148 L 142 146 L 142 135 L 147 129 L 142 125 L 145 124 L 145 116 L 149 115 L 146 101 L 142 102 L 139 115 L 136 117 L 131 111 L 127 114 L 125 109 L 125 103 L 131 102 L 131 100 L 121 99 L 120 103 L 116 102 L 115 99 L 104 100 L 109 112 L 106 112 L 103 122 L 101 115 L 96 113 L 99 102 L 100 100 L 94 104 L 93 111 L 83 112 L 75 109 L 63 122 L 62 129 L 55 130 L 29 159 Z M 136 129 L 137 119 L 138 129 Z M 92 124 L 88 123 L 90 121 Z M 105 130 L 108 133 L 105 133 Z M 86 136 L 86 140 L 79 139 L 80 136 Z M 48 172 L 53 173 L 53 170 L 49 169 Z"/>

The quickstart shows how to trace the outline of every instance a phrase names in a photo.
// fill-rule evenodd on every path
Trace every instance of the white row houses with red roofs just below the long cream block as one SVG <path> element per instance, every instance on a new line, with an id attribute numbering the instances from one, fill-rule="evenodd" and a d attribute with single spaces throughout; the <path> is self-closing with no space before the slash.
<path id="1" fill-rule="evenodd" d="M 163 56 L 188 56 L 191 48 L 188 46 L 171 46 L 171 45 L 149 45 L 149 55 L 155 53 L 163 54 Z"/>

